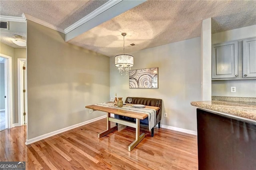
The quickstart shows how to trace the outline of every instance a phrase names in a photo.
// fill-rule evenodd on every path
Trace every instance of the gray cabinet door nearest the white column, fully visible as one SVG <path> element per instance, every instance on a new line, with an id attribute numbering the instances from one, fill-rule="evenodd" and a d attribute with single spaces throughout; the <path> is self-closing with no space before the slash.
<path id="1" fill-rule="evenodd" d="M 238 78 L 238 42 L 212 45 L 212 79 Z"/>

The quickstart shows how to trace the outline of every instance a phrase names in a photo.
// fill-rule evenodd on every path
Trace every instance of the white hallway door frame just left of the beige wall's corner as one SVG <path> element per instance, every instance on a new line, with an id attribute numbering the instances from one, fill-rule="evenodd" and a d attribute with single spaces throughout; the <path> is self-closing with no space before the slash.
<path id="1" fill-rule="evenodd" d="M 27 61 L 26 58 L 18 58 L 17 59 L 18 63 L 17 63 L 17 69 L 18 69 L 18 124 L 19 126 L 22 126 L 24 125 L 24 122 L 23 122 L 23 99 L 22 99 L 22 93 L 23 93 L 23 87 L 22 87 L 22 75 L 23 75 L 23 65 L 22 65 L 22 62 L 23 61 Z M 25 89 L 27 89 L 27 63 L 26 63 L 26 69 L 25 69 Z M 25 101 L 25 104 L 26 104 L 26 123 L 28 123 L 28 99 L 27 99 L 27 90 L 26 90 L 26 101 Z"/>

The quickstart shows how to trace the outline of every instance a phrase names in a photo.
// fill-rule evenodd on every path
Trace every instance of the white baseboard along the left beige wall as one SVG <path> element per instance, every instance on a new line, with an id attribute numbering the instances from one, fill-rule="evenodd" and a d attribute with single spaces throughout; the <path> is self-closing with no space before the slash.
<path id="1" fill-rule="evenodd" d="M 107 115 L 104 115 L 104 116 L 101 116 L 101 117 L 97 117 L 97 118 L 95 118 L 95 119 L 91 119 L 91 120 L 89 120 L 89 121 L 85 121 L 85 122 L 82 122 L 82 123 L 78 123 L 78 124 L 76 124 L 76 125 L 72 125 L 72 126 L 70 126 L 70 127 L 62 128 L 62 129 L 59 129 L 59 130 L 56 130 L 56 131 L 53 131 L 53 132 L 50 132 L 50 133 L 47 133 L 47 134 L 43 134 L 43 135 L 41 135 L 41 136 L 37 136 L 37 137 L 32 138 L 32 139 L 27 139 L 26 142 L 25 142 L 25 144 L 26 144 L 26 145 L 32 144 L 32 143 L 37 142 L 37 141 L 39 141 L 39 140 L 43 140 L 43 139 L 48 138 L 48 137 L 50 137 L 50 136 L 54 136 L 54 135 L 56 135 L 56 134 L 59 134 L 59 133 L 62 133 L 62 132 L 66 132 L 66 131 L 71 130 L 71 129 L 73 129 L 73 128 L 77 128 L 77 127 L 80 127 L 80 126 L 82 126 L 82 125 L 86 125 L 86 124 L 88 124 L 88 123 L 92 123 L 92 122 L 94 122 L 94 121 L 98 121 L 98 120 L 100 120 L 100 119 L 104 119 L 104 118 L 106 118 L 106 117 L 107 117 Z"/>

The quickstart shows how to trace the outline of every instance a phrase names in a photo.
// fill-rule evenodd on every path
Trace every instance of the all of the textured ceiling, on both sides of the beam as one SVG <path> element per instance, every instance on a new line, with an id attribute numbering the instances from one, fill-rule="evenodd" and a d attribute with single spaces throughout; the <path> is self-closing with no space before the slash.
<path id="1" fill-rule="evenodd" d="M 68 28 L 100 7 L 104 0 L 0 0 L 0 15 L 26 13 L 58 28 Z M 69 40 L 68 43 L 114 56 L 200 36 L 202 20 L 212 18 L 212 33 L 256 24 L 256 1 L 248 0 L 148 0 L 99 26 Z M 9 36 L 13 36 L 12 35 Z M 3 36 L 0 31 L 1 42 Z M 8 35 L 6 35 L 8 36 Z M 131 46 L 130 43 L 135 43 Z M 8 43 L 6 43 L 8 44 Z"/>

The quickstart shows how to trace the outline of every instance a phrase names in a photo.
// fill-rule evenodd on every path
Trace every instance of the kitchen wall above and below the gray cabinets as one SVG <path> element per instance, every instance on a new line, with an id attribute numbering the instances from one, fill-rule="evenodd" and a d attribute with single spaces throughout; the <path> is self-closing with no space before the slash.
<path id="1" fill-rule="evenodd" d="M 212 34 L 212 44 L 256 37 L 255 30 L 256 25 L 253 25 Z M 242 53 L 238 53 L 238 59 L 239 65 L 242 68 Z M 236 87 L 236 93 L 231 93 L 230 87 Z M 232 97 L 256 97 L 256 79 L 212 81 L 212 95 Z"/>

